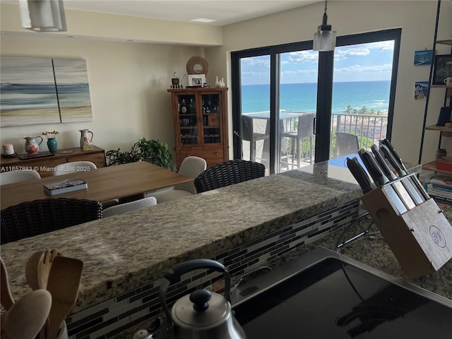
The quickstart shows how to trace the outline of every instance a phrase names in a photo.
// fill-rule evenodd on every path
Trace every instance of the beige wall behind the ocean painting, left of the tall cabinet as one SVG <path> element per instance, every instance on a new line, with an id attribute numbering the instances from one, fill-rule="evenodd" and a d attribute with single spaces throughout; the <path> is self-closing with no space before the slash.
<path id="1" fill-rule="evenodd" d="M 87 61 L 93 121 L 4 127 L 1 143 L 24 153 L 23 136 L 57 130 L 59 148 L 77 147 L 79 129 L 90 129 L 93 142 L 106 150 L 128 150 L 143 136 L 174 148 L 172 112 L 167 88 L 174 71 L 182 74 L 195 47 L 93 42 L 88 40 L 2 37 L 2 57 L 83 58 Z M 44 143 L 41 150 L 47 150 Z"/>

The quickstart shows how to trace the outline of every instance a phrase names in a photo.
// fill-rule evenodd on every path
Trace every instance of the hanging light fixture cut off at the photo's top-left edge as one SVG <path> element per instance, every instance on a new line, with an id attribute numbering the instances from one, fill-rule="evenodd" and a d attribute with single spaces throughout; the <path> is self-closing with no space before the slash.
<path id="1" fill-rule="evenodd" d="M 63 0 L 19 0 L 22 27 L 36 32 L 65 32 Z"/>

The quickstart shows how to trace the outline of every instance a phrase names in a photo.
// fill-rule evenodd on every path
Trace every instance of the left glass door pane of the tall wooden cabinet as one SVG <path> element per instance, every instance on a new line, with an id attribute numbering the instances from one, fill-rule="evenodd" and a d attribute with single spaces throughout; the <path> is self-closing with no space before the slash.
<path id="1" fill-rule="evenodd" d="M 179 95 L 177 99 L 181 144 L 197 144 L 198 120 L 196 118 L 196 95 Z"/>

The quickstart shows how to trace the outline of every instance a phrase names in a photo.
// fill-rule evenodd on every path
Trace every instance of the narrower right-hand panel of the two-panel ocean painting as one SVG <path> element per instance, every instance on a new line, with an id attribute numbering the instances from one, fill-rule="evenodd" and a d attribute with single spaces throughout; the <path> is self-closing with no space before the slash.
<path id="1" fill-rule="evenodd" d="M 93 120 L 88 71 L 83 59 L 53 59 L 61 122 Z"/>

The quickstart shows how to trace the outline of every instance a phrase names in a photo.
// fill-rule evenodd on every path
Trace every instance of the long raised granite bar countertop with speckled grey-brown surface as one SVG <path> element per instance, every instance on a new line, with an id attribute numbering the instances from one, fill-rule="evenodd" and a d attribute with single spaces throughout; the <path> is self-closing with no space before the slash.
<path id="1" fill-rule="evenodd" d="M 342 165 L 322 162 L 2 245 L 11 291 L 16 299 L 28 293 L 26 261 L 56 248 L 84 262 L 73 311 L 86 309 L 161 278 L 176 263 L 213 257 L 354 201 L 361 190 Z"/>

